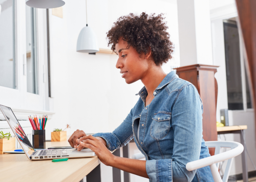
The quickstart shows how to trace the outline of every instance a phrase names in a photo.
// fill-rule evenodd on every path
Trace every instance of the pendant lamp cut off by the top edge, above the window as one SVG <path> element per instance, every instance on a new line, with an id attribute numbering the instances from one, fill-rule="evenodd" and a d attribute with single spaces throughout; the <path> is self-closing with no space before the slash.
<path id="1" fill-rule="evenodd" d="M 26 0 L 26 5 L 33 8 L 58 8 L 65 5 L 62 0 Z"/>

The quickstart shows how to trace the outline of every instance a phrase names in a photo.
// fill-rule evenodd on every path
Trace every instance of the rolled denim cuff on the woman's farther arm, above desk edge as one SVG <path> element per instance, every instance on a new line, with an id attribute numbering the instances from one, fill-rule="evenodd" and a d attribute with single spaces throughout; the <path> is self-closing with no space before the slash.
<path id="1" fill-rule="evenodd" d="M 107 148 L 110 151 L 114 151 L 120 147 L 120 140 L 113 133 L 96 133 L 92 136 L 103 138 L 106 141 Z"/>

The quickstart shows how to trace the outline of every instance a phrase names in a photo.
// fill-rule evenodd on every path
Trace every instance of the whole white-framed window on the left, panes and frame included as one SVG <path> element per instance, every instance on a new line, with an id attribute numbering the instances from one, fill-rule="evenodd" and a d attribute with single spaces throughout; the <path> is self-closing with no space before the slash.
<path id="1" fill-rule="evenodd" d="M 0 4 L 0 104 L 49 110 L 46 10 L 31 8 L 26 1 Z"/>

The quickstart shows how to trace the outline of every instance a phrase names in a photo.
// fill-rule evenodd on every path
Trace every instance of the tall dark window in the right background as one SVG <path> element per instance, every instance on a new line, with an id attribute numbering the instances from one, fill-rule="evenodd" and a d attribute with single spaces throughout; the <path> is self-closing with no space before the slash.
<path id="1" fill-rule="evenodd" d="M 235 18 L 226 19 L 223 26 L 228 110 L 246 110 L 252 105 L 237 22 Z"/>

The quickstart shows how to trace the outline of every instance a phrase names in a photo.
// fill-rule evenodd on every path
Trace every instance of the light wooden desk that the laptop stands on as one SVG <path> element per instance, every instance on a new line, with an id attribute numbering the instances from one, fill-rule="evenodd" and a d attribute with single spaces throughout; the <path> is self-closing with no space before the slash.
<path id="1" fill-rule="evenodd" d="M 48 147 L 70 146 L 67 141 L 46 142 Z M 87 182 L 100 182 L 100 161 L 91 158 L 68 159 L 53 163 L 52 160 L 31 161 L 25 154 L 0 155 L 0 177 L 5 182 L 79 182 L 87 176 Z"/>

